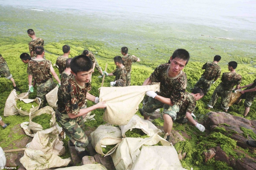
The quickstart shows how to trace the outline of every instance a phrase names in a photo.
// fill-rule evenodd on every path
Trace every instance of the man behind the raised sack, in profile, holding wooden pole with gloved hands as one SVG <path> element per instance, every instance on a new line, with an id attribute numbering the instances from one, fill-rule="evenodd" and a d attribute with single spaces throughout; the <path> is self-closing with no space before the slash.
<path id="1" fill-rule="evenodd" d="M 111 86 L 125 87 L 126 86 L 126 70 L 122 63 L 122 57 L 114 57 L 115 65 L 118 67 L 113 73 L 107 73 L 104 71 L 106 76 L 116 76 L 115 81 L 110 82 Z M 99 76 L 102 77 L 102 76 Z"/>

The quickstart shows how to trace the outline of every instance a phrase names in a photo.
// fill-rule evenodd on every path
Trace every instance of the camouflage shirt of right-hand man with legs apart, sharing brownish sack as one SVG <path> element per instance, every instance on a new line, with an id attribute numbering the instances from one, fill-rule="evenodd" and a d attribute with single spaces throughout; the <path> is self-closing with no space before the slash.
<path id="1" fill-rule="evenodd" d="M 225 90 L 232 90 L 234 85 L 239 85 L 242 81 L 242 76 L 236 72 L 225 72 L 221 77 L 221 87 Z"/>

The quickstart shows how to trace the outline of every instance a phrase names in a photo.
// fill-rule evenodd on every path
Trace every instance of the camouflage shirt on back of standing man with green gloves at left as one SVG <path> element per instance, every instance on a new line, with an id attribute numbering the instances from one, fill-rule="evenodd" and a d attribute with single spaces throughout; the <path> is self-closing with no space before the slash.
<path id="1" fill-rule="evenodd" d="M 28 62 L 27 73 L 28 75 L 32 75 L 36 82 L 44 83 L 47 80 L 52 78 L 50 74 L 50 66 L 52 62 L 46 59 L 33 59 Z"/>

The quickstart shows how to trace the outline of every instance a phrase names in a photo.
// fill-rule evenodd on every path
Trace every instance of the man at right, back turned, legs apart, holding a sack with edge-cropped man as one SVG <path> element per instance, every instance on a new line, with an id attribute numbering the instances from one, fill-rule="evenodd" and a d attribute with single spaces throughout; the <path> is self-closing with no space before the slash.
<path id="1" fill-rule="evenodd" d="M 228 111 L 228 103 L 230 100 L 232 89 L 234 85 L 236 85 L 236 88 L 234 90 L 239 89 L 240 83 L 242 81 L 242 76 L 236 73 L 236 67 L 237 62 L 231 61 L 228 63 L 228 70 L 230 72 L 222 74 L 221 83 L 214 90 L 211 100 L 207 104 L 207 109 L 210 110 L 210 108 L 213 108 L 218 98 L 221 97 L 221 108 L 223 108 L 224 112 Z"/>

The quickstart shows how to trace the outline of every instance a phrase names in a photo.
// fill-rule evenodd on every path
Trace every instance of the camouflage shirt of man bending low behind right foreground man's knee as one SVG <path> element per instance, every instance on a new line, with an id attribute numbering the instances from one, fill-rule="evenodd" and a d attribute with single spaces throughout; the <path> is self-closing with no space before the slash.
<path id="1" fill-rule="evenodd" d="M 184 116 L 186 116 L 186 112 L 191 114 L 194 111 L 196 104 L 197 102 L 195 97 L 188 92 L 185 92 L 180 105 L 180 111 L 177 113 L 177 120 L 184 118 Z"/>

